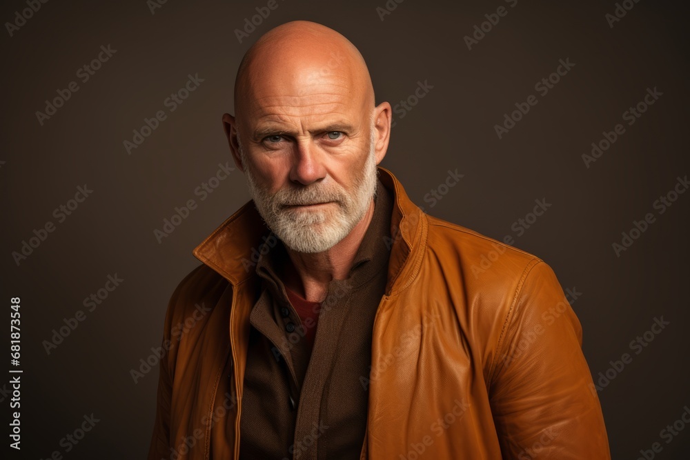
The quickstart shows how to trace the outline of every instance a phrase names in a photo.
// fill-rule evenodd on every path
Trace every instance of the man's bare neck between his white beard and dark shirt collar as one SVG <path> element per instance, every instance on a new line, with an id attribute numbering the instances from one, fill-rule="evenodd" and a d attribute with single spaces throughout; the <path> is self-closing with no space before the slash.
<path id="1" fill-rule="evenodd" d="M 374 201 L 371 200 L 364 217 L 355 228 L 333 248 L 324 252 L 308 254 L 297 252 L 286 246 L 292 267 L 284 270 L 284 285 L 304 299 L 321 302 L 326 298 L 328 283 L 333 279 L 346 279 L 352 268 L 355 254 L 362 244 L 366 229 L 374 213 Z"/>

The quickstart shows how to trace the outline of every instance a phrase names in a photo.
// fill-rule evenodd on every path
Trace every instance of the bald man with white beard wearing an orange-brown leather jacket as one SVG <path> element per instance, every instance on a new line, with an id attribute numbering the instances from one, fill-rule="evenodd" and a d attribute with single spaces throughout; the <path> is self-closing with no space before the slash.
<path id="1" fill-rule="evenodd" d="M 150 460 L 610 458 L 555 274 L 377 166 L 391 105 L 350 41 L 270 30 L 223 125 L 252 200 L 170 299 Z"/>

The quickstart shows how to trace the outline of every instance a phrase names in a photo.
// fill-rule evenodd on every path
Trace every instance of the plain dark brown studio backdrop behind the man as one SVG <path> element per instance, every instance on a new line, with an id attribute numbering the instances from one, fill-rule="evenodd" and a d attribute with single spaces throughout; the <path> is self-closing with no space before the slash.
<path id="1" fill-rule="evenodd" d="M 515 246 L 553 267 L 564 288 L 582 292 L 573 308 L 595 379 L 609 361 L 633 355 L 600 391 L 614 459 L 637 458 L 653 442 L 663 446 L 658 459 L 687 458 L 690 426 L 668 444 L 660 430 L 690 405 L 690 193 L 664 214 L 652 206 L 690 172 L 682 2 L 640 1 L 613 28 L 604 17 L 613 1 L 519 0 L 511 8 L 502 0 L 406 0 L 383 21 L 376 8 L 384 0 L 277 4 L 242 43 L 234 30 L 266 1 L 170 0 L 155 14 L 145 0 L 49 1 L 12 37 L 2 32 L 1 298 L 9 321 L 10 297 L 21 297 L 24 371 L 23 449 L 11 458 L 47 458 L 54 450 L 66 459 L 144 457 L 158 367 L 136 384 L 130 370 L 159 346 L 168 298 L 198 263 L 191 250 L 248 199 L 239 171 L 204 201 L 194 190 L 230 160 L 221 114 L 233 111 L 242 55 L 293 19 L 351 39 L 368 61 L 377 102 L 407 99 L 417 81 L 433 86 L 404 118 L 395 114 L 382 166 L 430 214 L 496 239 L 511 234 Z M 463 37 L 499 6 L 508 14 L 468 50 Z M 23 8 L 23 1 L 5 2 L 0 19 L 14 21 Z M 108 44 L 117 52 L 79 81 L 77 69 Z M 543 97 L 535 92 L 566 58 L 575 66 L 560 83 Z M 164 99 L 188 74 L 204 82 L 169 112 Z M 79 91 L 41 126 L 35 112 L 70 81 Z M 622 113 L 654 87 L 662 97 L 585 168 L 581 155 L 591 143 L 625 123 Z M 538 104 L 498 139 L 494 125 L 529 94 Z M 127 154 L 123 141 L 157 110 L 168 118 Z M 429 208 L 425 194 L 456 168 L 464 178 Z M 83 184 L 94 191 L 57 223 L 53 210 Z M 517 237 L 513 222 L 542 198 L 551 208 Z M 198 208 L 158 243 L 153 230 L 188 199 Z M 655 223 L 616 257 L 611 243 L 647 212 Z M 46 221 L 56 230 L 17 266 L 12 251 Z M 83 299 L 116 273 L 121 286 L 47 354 L 52 330 L 86 310 Z M 661 316 L 670 325 L 635 355 L 629 342 Z M 8 346 L 8 326 L 2 330 Z M 7 423 L 9 378 L 0 377 Z M 100 421 L 65 453 L 60 439 L 91 413 Z"/>

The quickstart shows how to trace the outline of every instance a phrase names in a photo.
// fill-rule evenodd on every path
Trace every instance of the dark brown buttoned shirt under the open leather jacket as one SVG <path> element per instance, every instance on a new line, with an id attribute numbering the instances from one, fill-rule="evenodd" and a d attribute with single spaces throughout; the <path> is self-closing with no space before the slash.
<path id="1" fill-rule="evenodd" d="M 392 208 L 390 192 L 377 181 L 373 217 L 349 277 L 328 284 L 317 324 L 302 324 L 290 304 L 281 281 L 288 260 L 282 243 L 259 258 L 262 292 L 250 313 L 240 459 L 359 458 Z M 304 339 L 310 328 L 316 330 L 312 350 Z"/>

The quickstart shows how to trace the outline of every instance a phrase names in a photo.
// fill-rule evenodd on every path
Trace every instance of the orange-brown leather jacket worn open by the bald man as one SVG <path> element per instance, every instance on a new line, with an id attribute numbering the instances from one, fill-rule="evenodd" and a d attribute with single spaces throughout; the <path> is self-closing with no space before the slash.
<path id="1" fill-rule="evenodd" d="M 582 329 L 531 254 L 424 214 L 391 172 L 386 294 L 362 459 L 610 459 Z M 237 459 L 249 312 L 267 234 L 250 201 L 170 299 L 149 460 Z"/>

